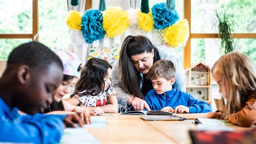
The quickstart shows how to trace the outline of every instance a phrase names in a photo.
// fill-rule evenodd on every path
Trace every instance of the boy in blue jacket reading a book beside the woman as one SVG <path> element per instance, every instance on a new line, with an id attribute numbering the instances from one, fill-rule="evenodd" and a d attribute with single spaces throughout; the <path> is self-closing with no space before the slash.
<path id="1" fill-rule="evenodd" d="M 150 68 L 147 78 L 154 90 L 147 93 L 145 101 L 152 110 L 173 113 L 207 113 L 212 111 L 207 102 L 175 88 L 175 66 L 170 60 L 158 60 Z"/>

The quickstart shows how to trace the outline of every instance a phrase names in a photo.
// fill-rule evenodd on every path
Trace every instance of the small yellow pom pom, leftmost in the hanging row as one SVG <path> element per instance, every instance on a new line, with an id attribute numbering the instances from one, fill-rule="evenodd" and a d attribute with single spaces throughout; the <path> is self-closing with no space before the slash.
<path id="1" fill-rule="evenodd" d="M 82 14 L 76 10 L 71 10 L 68 13 L 68 18 L 66 19 L 66 24 L 71 30 L 81 30 L 81 17 Z"/>

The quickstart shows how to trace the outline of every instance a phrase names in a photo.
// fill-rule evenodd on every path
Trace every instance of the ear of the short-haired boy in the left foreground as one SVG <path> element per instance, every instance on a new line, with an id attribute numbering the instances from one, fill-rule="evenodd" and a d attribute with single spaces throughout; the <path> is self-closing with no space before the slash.
<path id="1" fill-rule="evenodd" d="M 17 78 L 19 83 L 24 85 L 28 79 L 30 79 L 30 68 L 27 65 L 21 65 L 18 68 Z"/>

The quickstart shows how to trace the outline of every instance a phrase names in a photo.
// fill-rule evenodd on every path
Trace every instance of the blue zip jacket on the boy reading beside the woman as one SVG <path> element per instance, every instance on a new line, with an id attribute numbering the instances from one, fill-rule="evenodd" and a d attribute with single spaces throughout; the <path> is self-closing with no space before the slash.
<path id="1" fill-rule="evenodd" d="M 207 102 L 194 99 L 192 95 L 182 92 L 175 87 L 163 94 L 157 94 L 153 89 L 147 93 L 145 101 L 152 110 L 160 111 L 166 106 L 175 109 L 176 106 L 184 105 L 190 108 L 190 113 L 207 113 L 212 111 L 211 105 L 207 104 Z"/>

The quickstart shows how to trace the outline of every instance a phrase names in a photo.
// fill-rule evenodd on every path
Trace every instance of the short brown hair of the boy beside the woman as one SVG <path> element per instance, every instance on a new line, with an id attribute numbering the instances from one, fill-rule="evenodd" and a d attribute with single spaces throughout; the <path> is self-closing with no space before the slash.
<path id="1" fill-rule="evenodd" d="M 171 60 L 158 60 L 151 66 L 147 73 L 147 79 L 153 80 L 161 77 L 170 80 L 171 78 L 174 78 L 175 72 L 176 68 Z"/>

